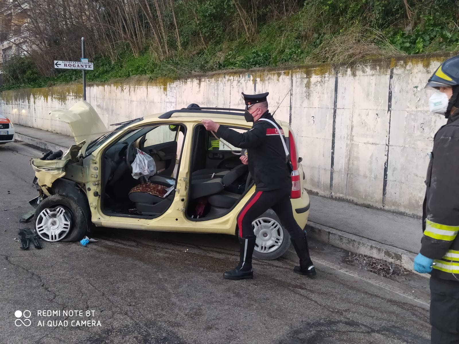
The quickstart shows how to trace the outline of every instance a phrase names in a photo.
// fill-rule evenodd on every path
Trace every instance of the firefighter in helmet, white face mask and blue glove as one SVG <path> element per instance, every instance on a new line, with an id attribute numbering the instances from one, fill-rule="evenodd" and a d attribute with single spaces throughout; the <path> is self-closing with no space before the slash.
<path id="1" fill-rule="evenodd" d="M 433 140 L 414 270 L 431 274 L 431 343 L 459 344 L 459 56 L 444 61 L 425 87 L 436 90 L 430 111 L 448 120 Z"/>

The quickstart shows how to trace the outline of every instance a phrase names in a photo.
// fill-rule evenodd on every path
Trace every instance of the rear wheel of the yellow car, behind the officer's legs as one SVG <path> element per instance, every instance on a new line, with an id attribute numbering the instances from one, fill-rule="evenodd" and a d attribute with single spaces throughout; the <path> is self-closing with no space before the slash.
<path id="1" fill-rule="evenodd" d="M 280 224 L 276 213 L 268 209 L 252 222 L 253 232 L 257 236 L 253 257 L 273 260 L 282 256 L 290 247 L 290 234 Z"/>

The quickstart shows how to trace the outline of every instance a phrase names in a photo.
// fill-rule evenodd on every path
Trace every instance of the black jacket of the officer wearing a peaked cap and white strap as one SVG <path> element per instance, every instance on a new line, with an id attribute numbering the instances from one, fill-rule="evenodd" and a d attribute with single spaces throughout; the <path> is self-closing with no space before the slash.
<path id="1" fill-rule="evenodd" d="M 273 121 L 280 128 L 268 111 L 263 113 L 261 118 Z M 257 121 L 246 133 L 238 133 L 220 125 L 217 135 L 235 147 L 247 149 L 249 171 L 255 181 L 257 191 L 291 189 L 291 177 L 284 146 L 271 123 Z M 283 139 L 285 140 L 284 136 Z"/>

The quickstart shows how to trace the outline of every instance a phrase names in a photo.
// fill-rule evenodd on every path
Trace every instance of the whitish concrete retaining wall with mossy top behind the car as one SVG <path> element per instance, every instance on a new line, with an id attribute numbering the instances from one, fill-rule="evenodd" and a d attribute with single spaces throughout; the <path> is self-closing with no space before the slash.
<path id="1" fill-rule="evenodd" d="M 87 99 L 108 126 L 190 103 L 241 107 L 241 91 L 269 91 L 272 111 L 285 97 L 275 117 L 291 123 L 307 189 L 419 215 L 432 138 L 445 123 L 429 113 L 423 88 L 446 57 L 90 84 Z M 0 113 L 22 125 L 70 134 L 49 112 L 81 97 L 81 85 L 5 91 Z"/>

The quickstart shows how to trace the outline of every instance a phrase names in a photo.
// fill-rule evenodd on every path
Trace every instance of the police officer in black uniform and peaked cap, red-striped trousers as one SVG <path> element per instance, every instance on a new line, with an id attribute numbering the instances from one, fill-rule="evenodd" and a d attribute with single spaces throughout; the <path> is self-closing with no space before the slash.
<path id="1" fill-rule="evenodd" d="M 240 243 L 239 264 L 233 270 L 225 272 L 223 277 L 226 279 L 253 278 L 252 254 L 256 236 L 253 233 L 252 222 L 269 208 L 277 214 L 282 226 L 290 233 L 291 242 L 300 259 L 300 265 L 295 266 L 294 271 L 313 277 L 316 271 L 309 257 L 306 235 L 293 217 L 290 201 L 290 170 L 284 145 L 277 129 L 280 130 L 280 127 L 268 110 L 266 98 L 268 93 L 242 93 L 242 96 L 246 103 L 244 117 L 247 122 L 254 122 L 252 129 L 246 133 L 238 133 L 211 120 L 202 120 L 207 130 L 215 132 L 218 137 L 235 147 L 247 149 L 247 155 L 241 156 L 241 162 L 248 164 L 256 185 L 255 193 L 237 216 Z M 284 136 L 282 139 L 285 139 Z"/>

